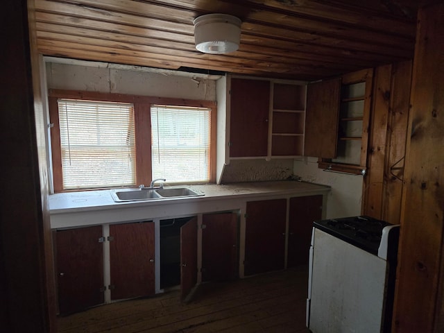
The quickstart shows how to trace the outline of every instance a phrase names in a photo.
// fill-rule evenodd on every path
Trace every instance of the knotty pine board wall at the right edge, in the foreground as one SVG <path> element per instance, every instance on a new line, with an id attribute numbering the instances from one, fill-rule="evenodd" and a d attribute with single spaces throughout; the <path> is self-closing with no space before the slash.
<path id="1" fill-rule="evenodd" d="M 444 3 L 418 16 L 394 332 L 444 332 Z"/>

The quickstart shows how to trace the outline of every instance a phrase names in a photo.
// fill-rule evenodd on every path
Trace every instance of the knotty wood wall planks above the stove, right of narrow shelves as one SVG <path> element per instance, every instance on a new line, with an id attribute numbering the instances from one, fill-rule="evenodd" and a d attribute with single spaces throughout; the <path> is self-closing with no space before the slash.
<path id="1" fill-rule="evenodd" d="M 364 178 L 363 214 L 401 223 L 402 177 L 409 117 L 411 61 L 377 67 Z"/>

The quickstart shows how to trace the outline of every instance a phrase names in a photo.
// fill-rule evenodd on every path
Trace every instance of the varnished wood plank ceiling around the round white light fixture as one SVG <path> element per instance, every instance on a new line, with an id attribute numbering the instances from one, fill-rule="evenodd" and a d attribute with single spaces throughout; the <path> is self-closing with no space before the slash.
<path id="1" fill-rule="evenodd" d="M 416 0 L 34 0 L 47 56 L 318 80 L 413 58 Z M 193 20 L 239 17 L 226 55 L 194 47 Z"/>

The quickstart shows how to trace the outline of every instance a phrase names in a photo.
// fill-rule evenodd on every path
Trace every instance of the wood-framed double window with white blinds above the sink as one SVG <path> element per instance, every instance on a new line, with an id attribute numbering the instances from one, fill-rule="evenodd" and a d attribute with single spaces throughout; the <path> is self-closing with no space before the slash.
<path id="1" fill-rule="evenodd" d="M 216 103 L 49 90 L 54 192 L 216 178 Z"/>

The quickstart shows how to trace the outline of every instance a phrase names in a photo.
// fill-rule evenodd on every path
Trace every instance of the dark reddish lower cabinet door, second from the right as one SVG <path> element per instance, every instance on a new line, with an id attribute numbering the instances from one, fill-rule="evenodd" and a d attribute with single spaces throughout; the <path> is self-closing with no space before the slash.
<path id="1" fill-rule="evenodd" d="M 284 268 L 286 199 L 247 203 L 245 275 Z"/>

